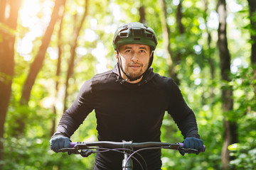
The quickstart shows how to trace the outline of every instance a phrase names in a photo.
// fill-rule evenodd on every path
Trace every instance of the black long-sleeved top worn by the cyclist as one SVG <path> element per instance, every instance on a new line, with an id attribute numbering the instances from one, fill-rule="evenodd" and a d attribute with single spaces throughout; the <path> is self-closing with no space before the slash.
<path id="1" fill-rule="evenodd" d="M 73 105 L 60 120 L 55 135 L 71 137 L 95 110 L 98 140 L 122 142 L 160 142 L 161 124 L 167 111 L 184 138 L 197 137 L 196 118 L 171 78 L 148 69 L 142 81 L 129 84 L 114 69 L 97 74 L 85 82 Z M 148 169 L 161 169 L 161 150 L 142 152 Z M 123 155 L 97 153 L 95 169 L 121 169 Z M 134 169 L 139 166 L 134 162 Z M 139 169 L 139 168 L 138 168 Z"/>

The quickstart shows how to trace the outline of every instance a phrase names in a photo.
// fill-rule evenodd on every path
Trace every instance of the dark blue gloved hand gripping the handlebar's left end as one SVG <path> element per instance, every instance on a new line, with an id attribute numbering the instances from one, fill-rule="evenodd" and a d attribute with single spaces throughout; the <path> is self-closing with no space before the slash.
<path id="1" fill-rule="evenodd" d="M 58 149 L 70 147 L 71 140 L 68 137 L 58 136 L 50 139 L 50 149 L 58 153 Z"/>

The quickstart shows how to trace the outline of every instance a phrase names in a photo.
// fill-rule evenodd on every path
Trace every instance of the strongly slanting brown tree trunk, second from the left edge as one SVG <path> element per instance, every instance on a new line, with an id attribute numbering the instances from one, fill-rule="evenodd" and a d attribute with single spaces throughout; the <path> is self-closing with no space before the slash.
<path id="1" fill-rule="evenodd" d="M 43 36 L 42 45 L 38 51 L 38 54 L 36 55 L 35 60 L 31 64 L 30 70 L 28 72 L 28 77 L 26 78 L 26 81 L 23 84 L 23 90 L 22 90 L 21 99 L 20 99 L 21 105 L 24 105 L 24 106 L 28 105 L 28 101 L 31 96 L 31 89 L 33 87 L 33 84 L 36 81 L 38 72 L 43 67 L 43 60 L 45 59 L 46 50 L 50 43 L 50 37 L 53 34 L 55 23 L 59 17 L 60 6 L 64 6 L 64 5 L 65 5 L 65 0 L 55 1 L 55 6 L 53 8 L 53 13 L 50 19 L 49 26 L 46 30 L 45 35 Z M 23 115 L 26 115 L 26 113 L 23 113 Z M 18 119 L 16 121 L 17 121 L 18 127 L 16 128 L 16 134 L 14 135 L 22 135 L 23 130 L 25 128 L 25 122 L 23 119 Z"/>

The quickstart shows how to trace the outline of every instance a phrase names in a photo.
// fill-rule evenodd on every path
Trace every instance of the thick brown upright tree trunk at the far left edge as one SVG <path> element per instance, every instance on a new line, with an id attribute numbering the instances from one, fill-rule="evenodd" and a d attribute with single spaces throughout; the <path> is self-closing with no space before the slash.
<path id="1" fill-rule="evenodd" d="M 4 123 L 11 98 L 11 84 L 14 77 L 14 43 L 21 0 L 9 1 L 9 18 L 5 18 L 7 1 L 0 1 L 0 23 L 8 30 L 0 30 L 0 162 L 4 159 Z M 0 166 L 0 169 L 4 169 Z"/>

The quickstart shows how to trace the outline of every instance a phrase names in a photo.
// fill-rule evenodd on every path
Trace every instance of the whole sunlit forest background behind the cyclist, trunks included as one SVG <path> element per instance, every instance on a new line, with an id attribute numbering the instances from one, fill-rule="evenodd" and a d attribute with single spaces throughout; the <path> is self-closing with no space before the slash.
<path id="1" fill-rule="evenodd" d="M 178 84 L 206 145 L 163 149 L 162 169 L 256 169 L 255 0 L 0 0 L 0 169 L 92 169 L 93 154 L 49 140 L 82 84 L 114 67 L 130 22 L 155 30 L 154 72 Z M 71 140 L 97 141 L 94 112 Z M 183 141 L 169 114 L 161 141 Z"/>

